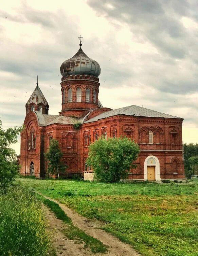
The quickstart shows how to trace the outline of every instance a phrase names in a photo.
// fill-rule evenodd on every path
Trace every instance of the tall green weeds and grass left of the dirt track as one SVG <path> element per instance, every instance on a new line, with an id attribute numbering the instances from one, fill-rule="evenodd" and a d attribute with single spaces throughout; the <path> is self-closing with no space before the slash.
<path id="1" fill-rule="evenodd" d="M 0 255 L 49 255 L 51 234 L 35 190 L 16 185 L 0 192 Z"/>

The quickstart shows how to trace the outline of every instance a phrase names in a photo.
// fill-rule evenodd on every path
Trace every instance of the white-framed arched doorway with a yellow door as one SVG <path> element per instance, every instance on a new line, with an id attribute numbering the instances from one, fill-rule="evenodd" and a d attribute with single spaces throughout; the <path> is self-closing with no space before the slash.
<path id="1" fill-rule="evenodd" d="M 144 161 L 144 180 L 160 181 L 160 162 L 156 156 L 148 156 Z"/>

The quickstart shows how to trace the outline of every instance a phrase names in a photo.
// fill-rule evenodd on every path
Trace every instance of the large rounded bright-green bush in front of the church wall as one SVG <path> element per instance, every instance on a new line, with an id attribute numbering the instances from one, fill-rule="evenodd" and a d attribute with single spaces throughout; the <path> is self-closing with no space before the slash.
<path id="1" fill-rule="evenodd" d="M 140 153 L 139 145 L 126 137 L 102 137 L 89 146 L 87 165 L 92 166 L 94 179 L 102 182 L 117 182 L 126 179 L 132 164 Z"/>

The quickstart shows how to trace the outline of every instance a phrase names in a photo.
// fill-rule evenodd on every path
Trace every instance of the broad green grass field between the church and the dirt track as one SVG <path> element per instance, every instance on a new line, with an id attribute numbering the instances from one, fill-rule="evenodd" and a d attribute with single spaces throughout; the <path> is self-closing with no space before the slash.
<path id="1" fill-rule="evenodd" d="M 23 179 L 145 256 L 198 256 L 198 181 L 187 184 Z"/>

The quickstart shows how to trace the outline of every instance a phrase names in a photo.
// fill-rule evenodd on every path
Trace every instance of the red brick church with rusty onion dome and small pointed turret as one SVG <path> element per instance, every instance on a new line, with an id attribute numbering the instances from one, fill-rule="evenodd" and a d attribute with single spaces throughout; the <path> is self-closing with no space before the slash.
<path id="1" fill-rule="evenodd" d="M 49 104 L 38 83 L 25 105 L 25 130 L 21 133 L 21 174 L 45 177 L 44 153 L 57 139 L 68 165 L 67 175 L 83 174 L 91 180 L 86 164 L 88 147 L 102 134 L 126 136 L 139 144 L 141 153 L 129 180 L 184 179 L 182 156 L 183 118 L 131 105 L 104 108 L 98 99 L 99 64 L 82 50 L 60 66 L 61 106 L 58 115 L 49 115 Z M 76 125 L 77 124 L 77 125 Z"/>

